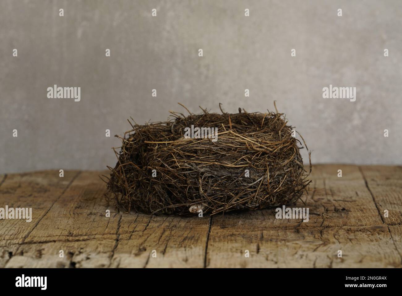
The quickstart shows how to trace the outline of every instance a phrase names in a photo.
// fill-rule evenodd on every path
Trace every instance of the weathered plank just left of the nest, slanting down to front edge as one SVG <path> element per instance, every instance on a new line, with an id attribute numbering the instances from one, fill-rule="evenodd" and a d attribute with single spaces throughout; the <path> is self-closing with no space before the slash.
<path id="1" fill-rule="evenodd" d="M 20 243 L 6 267 L 109 266 L 120 214 L 103 197 L 102 173 L 80 173 Z M 60 250 L 67 256 L 60 258 Z"/>

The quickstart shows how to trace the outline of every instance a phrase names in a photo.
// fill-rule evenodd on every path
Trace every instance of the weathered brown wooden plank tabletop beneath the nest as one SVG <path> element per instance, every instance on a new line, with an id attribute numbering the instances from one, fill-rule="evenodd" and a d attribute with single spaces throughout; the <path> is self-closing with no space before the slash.
<path id="1" fill-rule="evenodd" d="M 313 166 L 306 206 L 297 204 L 309 222 L 274 209 L 118 213 L 102 196 L 105 173 L 0 175 L 0 207 L 33 208 L 32 222 L 0 220 L 0 267 L 401 267 L 400 166 Z"/>

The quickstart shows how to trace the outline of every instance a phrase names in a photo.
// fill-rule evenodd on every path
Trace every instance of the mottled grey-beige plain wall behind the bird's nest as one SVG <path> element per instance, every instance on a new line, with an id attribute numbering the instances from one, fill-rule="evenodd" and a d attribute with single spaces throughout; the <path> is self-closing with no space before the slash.
<path id="1" fill-rule="evenodd" d="M 314 163 L 401 164 L 401 36 L 399 0 L 1 0 L 0 173 L 113 166 L 126 119 L 165 120 L 177 102 L 276 100 Z M 53 84 L 80 86 L 81 101 L 48 99 Z M 357 87 L 356 101 L 323 99 L 329 84 Z"/>

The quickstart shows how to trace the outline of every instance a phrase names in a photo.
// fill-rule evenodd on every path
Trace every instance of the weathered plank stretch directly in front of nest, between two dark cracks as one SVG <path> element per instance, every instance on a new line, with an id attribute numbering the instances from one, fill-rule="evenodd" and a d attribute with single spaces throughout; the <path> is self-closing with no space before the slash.
<path id="1" fill-rule="evenodd" d="M 203 267 L 209 221 L 124 214 L 111 267 Z"/>

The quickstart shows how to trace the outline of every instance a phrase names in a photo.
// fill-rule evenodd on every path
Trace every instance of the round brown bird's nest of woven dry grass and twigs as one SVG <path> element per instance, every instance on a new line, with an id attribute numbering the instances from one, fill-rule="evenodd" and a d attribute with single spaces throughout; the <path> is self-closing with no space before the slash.
<path id="1" fill-rule="evenodd" d="M 165 122 L 129 121 L 132 129 L 117 136 L 122 146 L 109 167 L 107 199 L 125 212 L 194 215 L 287 205 L 307 190 L 299 152 L 306 143 L 283 113 L 202 110 L 170 111 Z M 185 138 L 191 125 L 217 127 L 217 141 Z"/>

